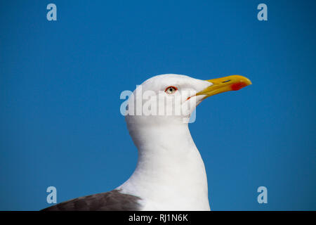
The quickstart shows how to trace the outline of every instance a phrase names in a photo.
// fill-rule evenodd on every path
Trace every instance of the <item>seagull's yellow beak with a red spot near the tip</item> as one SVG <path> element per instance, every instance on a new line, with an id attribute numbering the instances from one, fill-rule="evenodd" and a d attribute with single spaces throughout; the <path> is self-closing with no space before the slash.
<path id="1" fill-rule="evenodd" d="M 197 96 L 205 95 L 205 98 L 207 98 L 226 91 L 237 91 L 251 84 L 248 78 L 239 75 L 209 79 L 207 82 L 211 82 L 213 85 L 208 86 L 203 91 L 199 91 Z"/>

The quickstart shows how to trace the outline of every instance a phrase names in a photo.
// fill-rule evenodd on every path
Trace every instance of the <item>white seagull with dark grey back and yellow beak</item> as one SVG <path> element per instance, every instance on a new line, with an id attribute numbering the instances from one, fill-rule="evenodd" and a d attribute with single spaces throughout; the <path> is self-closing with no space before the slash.
<path id="1" fill-rule="evenodd" d="M 209 211 L 204 162 L 188 127 L 205 98 L 251 84 L 240 75 L 201 80 L 157 75 L 136 87 L 124 112 L 138 148 L 131 177 L 113 191 L 68 200 L 44 211 Z"/>

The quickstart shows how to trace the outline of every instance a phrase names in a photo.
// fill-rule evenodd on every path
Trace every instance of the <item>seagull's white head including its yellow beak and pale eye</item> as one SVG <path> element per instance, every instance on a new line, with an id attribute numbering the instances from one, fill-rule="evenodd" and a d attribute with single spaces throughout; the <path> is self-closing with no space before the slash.
<path id="1" fill-rule="evenodd" d="M 191 113 L 205 98 L 237 91 L 251 84 L 240 75 L 202 80 L 185 75 L 157 75 L 136 87 L 129 97 L 128 124 L 187 123 Z"/>

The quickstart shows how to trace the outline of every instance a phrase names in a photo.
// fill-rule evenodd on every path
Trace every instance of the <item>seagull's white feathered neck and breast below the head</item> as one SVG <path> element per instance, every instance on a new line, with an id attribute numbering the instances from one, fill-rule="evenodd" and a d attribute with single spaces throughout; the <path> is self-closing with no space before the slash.
<path id="1" fill-rule="evenodd" d="M 209 210 L 204 162 L 187 124 L 129 127 L 129 131 L 138 148 L 138 163 L 133 175 L 120 187 L 123 191 L 154 198 L 155 203 L 170 201 L 171 206 L 174 198 L 185 196 L 186 206 L 201 205 L 201 210 Z"/>

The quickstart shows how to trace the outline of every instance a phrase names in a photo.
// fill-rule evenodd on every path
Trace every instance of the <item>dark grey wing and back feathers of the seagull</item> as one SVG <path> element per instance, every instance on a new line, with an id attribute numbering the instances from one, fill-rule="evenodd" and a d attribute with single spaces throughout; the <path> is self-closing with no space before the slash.
<path id="1" fill-rule="evenodd" d="M 138 211 L 139 200 L 141 199 L 137 196 L 113 190 L 74 198 L 41 211 Z"/>

